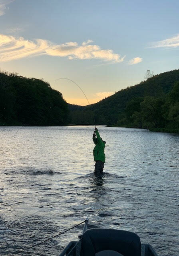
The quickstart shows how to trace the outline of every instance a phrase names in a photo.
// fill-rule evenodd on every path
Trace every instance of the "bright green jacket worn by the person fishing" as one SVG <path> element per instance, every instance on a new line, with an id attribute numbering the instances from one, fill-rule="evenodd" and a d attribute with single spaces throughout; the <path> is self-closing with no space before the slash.
<path id="1" fill-rule="evenodd" d="M 99 136 L 99 132 L 96 131 L 97 139 L 95 138 L 95 135 L 93 135 L 93 142 L 95 144 L 95 147 L 93 149 L 93 156 L 94 161 L 102 161 L 105 162 L 105 154 L 104 154 L 104 148 L 105 148 L 105 142 L 103 142 Z"/>

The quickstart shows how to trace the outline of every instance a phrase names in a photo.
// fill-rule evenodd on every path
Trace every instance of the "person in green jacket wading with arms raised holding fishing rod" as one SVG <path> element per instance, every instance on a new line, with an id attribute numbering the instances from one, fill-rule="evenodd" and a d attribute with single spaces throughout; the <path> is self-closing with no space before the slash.
<path id="1" fill-rule="evenodd" d="M 96 137 L 97 138 L 96 138 Z M 95 147 L 93 149 L 93 156 L 95 163 L 95 174 L 102 174 L 103 168 L 104 168 L 104 162 L 105 162 L 105 154 L 104 154 L 104 148 L 105 148 L 105 141 L 102 140 L 102 138 L 99 135 L 99 132 L 97 128 L 95 128 L 95 132 L 93 132 L 93 142 L 95 144 Z"/>

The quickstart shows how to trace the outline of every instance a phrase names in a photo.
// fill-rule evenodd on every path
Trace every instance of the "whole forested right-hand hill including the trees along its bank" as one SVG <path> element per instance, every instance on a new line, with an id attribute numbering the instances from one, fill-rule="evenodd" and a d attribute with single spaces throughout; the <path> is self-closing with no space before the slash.
<path id="1" fill-rule="evenodd" d="M 70 123 L 94 124 L 93 115 L 96 124 L 177 132 L 179 70 L 153 76 L 96 104 L 74 110 L 70 114 Z"/>

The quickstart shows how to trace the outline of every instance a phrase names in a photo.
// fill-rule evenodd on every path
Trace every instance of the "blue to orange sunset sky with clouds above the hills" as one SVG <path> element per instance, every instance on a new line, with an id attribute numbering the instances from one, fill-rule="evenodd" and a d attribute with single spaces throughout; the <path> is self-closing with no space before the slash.
<path id="1" fill-rule="evenodd" d="M 0 69 L 43 78 L 70 104 L 99 102 L 148 69 L 179 68 L 178 10 L 178 0 L 0 0 Z"/>

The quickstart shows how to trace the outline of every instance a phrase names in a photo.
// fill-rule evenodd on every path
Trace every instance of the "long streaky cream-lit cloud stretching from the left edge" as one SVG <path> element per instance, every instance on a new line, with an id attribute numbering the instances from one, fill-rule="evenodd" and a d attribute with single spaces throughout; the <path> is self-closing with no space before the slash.
<path id="1" fill-rule="evenodd" d="M 90 44 L 92 40 L 83 42 L 66 42 L 64 44 L 53 44 L 44 39 L 34 41 L 25 40 L 23 37 L 15 38 L 0 34 L 0 61 L 10 61 L 28 56 L 50 55 L 67 57 L 73 59 L 99 59 L 113 63 L 123 62 L 124 57 L 113 53 L 113 50 L 101 50 L 100 46 Z"/>

